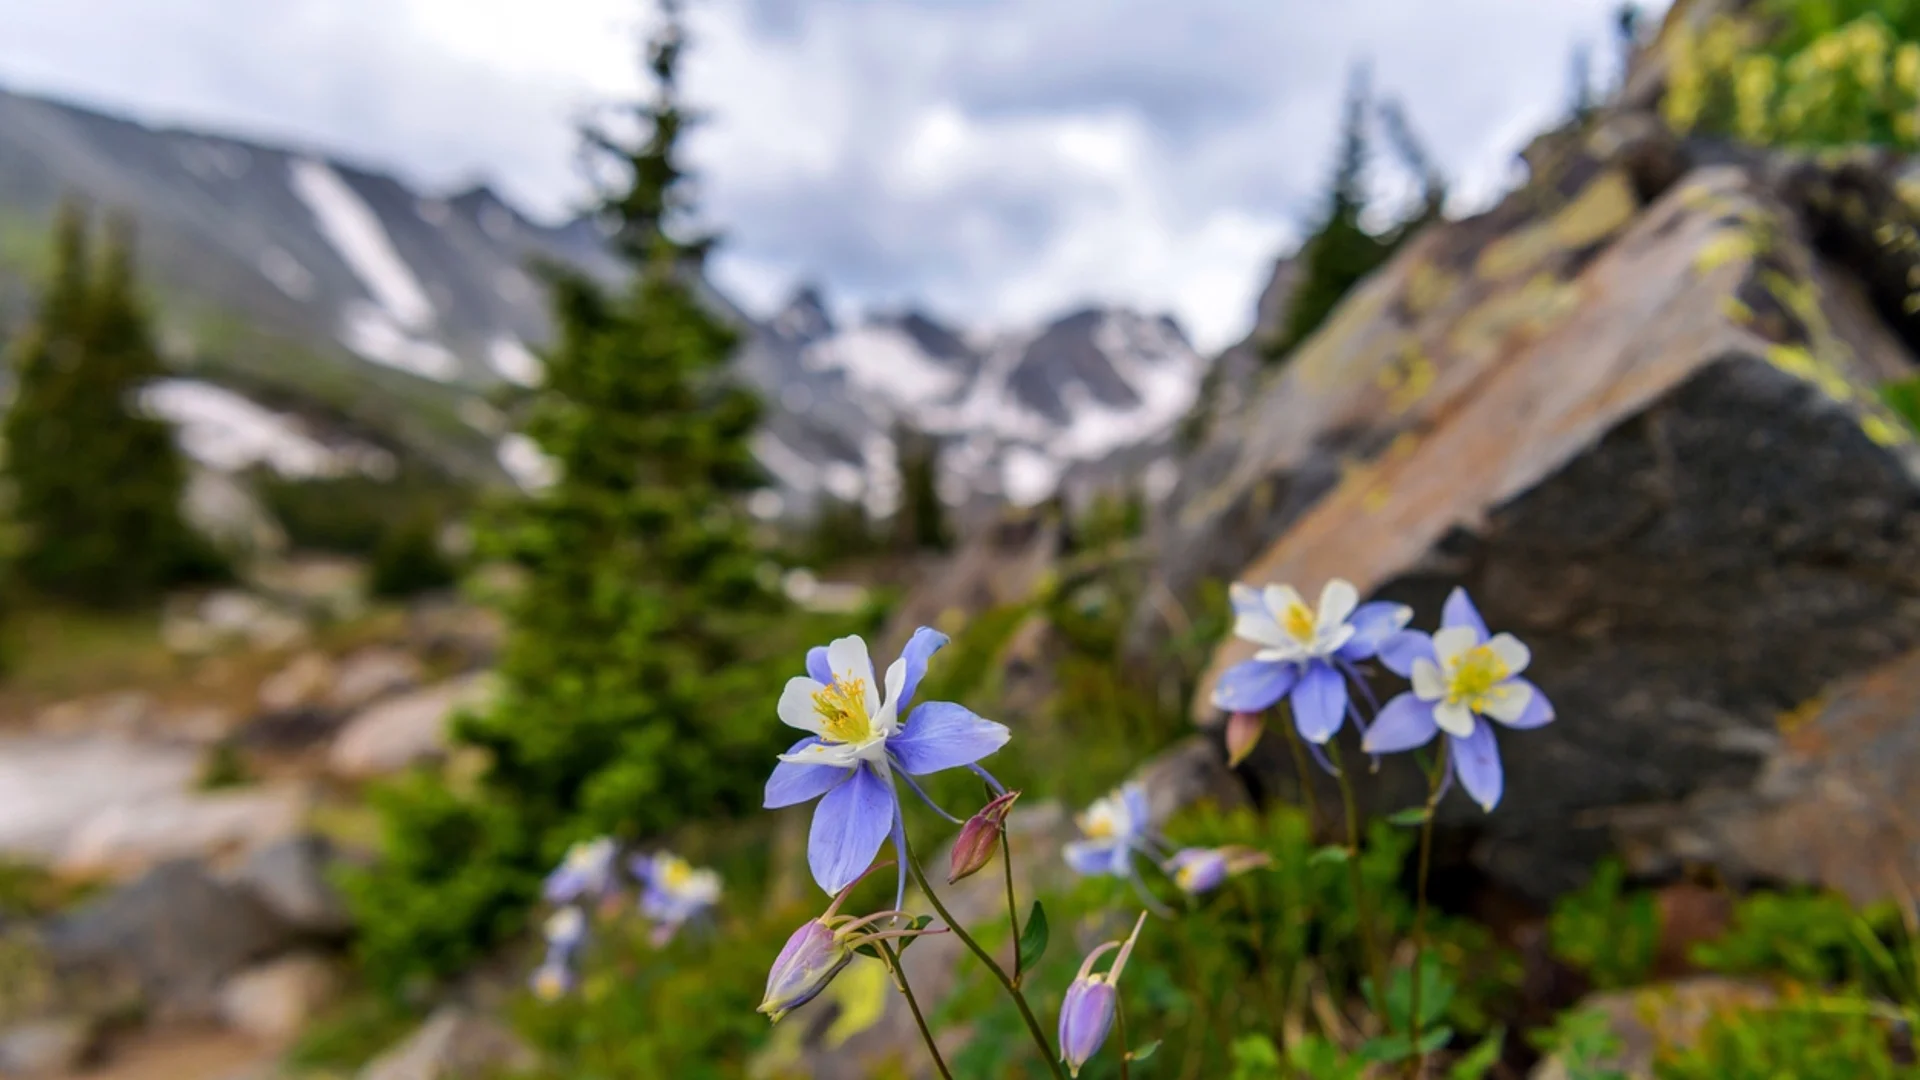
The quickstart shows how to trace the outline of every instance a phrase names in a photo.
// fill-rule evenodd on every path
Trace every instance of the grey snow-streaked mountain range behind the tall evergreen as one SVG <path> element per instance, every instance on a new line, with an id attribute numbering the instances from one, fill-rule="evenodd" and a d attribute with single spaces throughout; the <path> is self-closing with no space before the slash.
<path id="1" fill-rule="evenodd" d="M 622 275 L 589 219 L 541 225 L 484 186 L 426 194 L 315 150 L 0 90 L 0 323 L 25 309 L 75 194 L 134 221 L 182 363 L 146 404 L 223 471 L 420 454 L 538 482 L 538 454 L 490 400 L 540 380 L 551 327 L 534 267 Z M 756 450 L 789 513 L 822 496 L 889 509 L 902 425 L 945 446 L 952 502 L 1044 498 L 1069 469 L 1164 438 L 1202 369 L 1169 319 L 1131 311 L 973 334 L 918 311 L 837 327 L 814 290 L 766 321 L 707 294 L 743 331 L 739 375 L 768 402 Z"/>

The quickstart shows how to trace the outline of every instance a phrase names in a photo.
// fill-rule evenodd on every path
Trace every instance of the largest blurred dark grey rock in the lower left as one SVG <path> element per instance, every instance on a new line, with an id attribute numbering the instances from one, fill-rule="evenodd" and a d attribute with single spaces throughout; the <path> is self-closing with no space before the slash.
<path id="1" fill-rule="evenodd" d="M 125 974 L 163 1019 L 215 1013 L 221 982 L 292 944 L 294 932 L 250 890 L 177 859 L 46 924 L 63 976 Z"/>

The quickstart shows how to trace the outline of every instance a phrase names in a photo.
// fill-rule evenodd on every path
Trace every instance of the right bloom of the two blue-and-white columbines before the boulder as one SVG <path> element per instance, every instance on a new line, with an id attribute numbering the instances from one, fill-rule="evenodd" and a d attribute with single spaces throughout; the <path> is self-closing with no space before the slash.
<path id="1" fill-rule="evenodd" d="M 1375 717 L 1363 748 L 1394 753 L 1448 734 L 1452 776 L 1480 809 L 1492 811 L 1505 788 L 1494 726 L 1538 728 L 1553 705 L 1521 678 L 1532 653 L 1513 634 L 1488 634 L 1467 590 L 1455 588 L 1440 613 L 1440 630 L 1402 630 L 1380 648 L 1380 661 L 1413 682 Z"/>

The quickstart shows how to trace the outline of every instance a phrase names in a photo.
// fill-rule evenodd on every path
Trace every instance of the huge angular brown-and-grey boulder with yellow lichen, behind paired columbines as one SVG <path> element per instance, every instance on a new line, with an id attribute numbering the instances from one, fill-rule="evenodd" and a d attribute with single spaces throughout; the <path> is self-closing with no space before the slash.
<path id="1" fill-rule="evenodd" d="M 1920 646 L 1920 578 L 1887 573 L 1920 557 L 1920 448 L 1876 392 L 1914 361 L 1812 246 L 1809 184 L 1732 161 L 1655 194 L 1592 148 L 1544 171 L 1361 282 L 1156 525 L 1188 609 L 1208 578 L 1344 577 L 1430 626 L 1465 586 L 1526 640 L 1559 723 L 1501 740 L 1498 813 L 1442 826 L 1536 899 L 1619 815 L 1751 792 L 1782 713 Z M 1217 650 L 1196 719 L 1246 655 Z M 1417 798 L 1407 761 L 1380 776 L 1375 809 Z"/>

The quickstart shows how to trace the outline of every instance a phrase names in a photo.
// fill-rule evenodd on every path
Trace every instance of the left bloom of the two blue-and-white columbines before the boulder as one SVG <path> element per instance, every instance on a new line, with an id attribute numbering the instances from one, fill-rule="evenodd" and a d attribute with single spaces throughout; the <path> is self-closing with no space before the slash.
<path id="1" fill-rule="evenodd" d="M 1219 676 L 1213 705 L 1260 713 L 1288 698 L 1294 726 L 1315 746 L 1327 744 L 1346 723 L 1346 678 L 1354 663 L 1375 655 L 1413 619 L 1404 603 L 1359 603 L 1359 592 L 1340 578 L 1321 590 L 1319 609 L 1308 607 L 1284 584 L 1256 590 L 1235 582 L 1231 600 L 1233 632 L 1260 651 Z"/>

